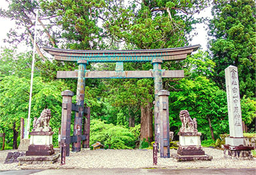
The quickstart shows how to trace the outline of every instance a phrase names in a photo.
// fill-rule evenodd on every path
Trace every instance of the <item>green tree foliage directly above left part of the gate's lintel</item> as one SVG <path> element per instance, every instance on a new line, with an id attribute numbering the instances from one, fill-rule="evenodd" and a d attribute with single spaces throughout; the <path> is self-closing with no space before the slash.
<path id="1" fill-rule="evenodd" d="M 40 7 L 61 26 L 61 37 L 70 49 L 99 49 L 103 30 L 99 13 L 106 8 L 104 1 L 41 1 Z"/>

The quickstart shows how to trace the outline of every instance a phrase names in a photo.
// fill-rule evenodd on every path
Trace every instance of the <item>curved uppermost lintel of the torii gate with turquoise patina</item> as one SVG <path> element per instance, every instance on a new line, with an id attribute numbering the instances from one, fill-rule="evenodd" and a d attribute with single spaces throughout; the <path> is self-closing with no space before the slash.
<path id="1" fill-rule="evenodd" d="M 184 60 L 187 55 L 196 51 L 200 45 L 176 47 L 168 49 L 147 50 L 68 50 L 54 47 L 44 47 L 57 61 L 87 60 L 88 62 L 152 62 L 153 59 L 162 61 Z"/>

